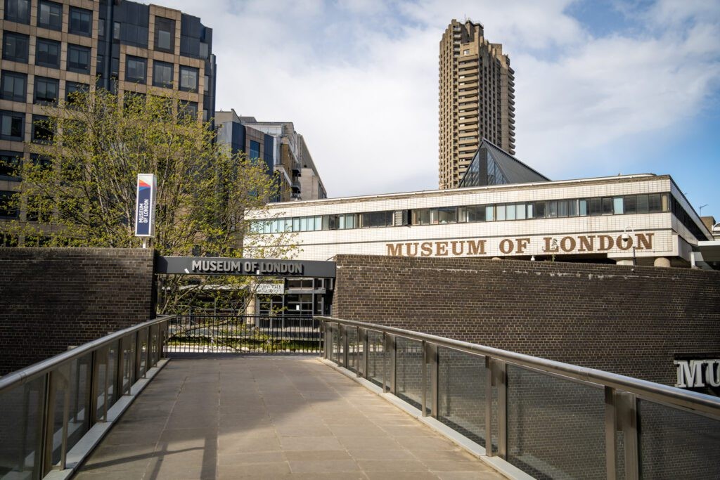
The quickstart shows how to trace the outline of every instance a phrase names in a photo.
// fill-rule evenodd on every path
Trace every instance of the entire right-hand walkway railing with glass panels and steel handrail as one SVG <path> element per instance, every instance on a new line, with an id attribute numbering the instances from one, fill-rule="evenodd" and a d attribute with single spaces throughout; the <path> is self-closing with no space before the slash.
<path id="1" fill-rule="evenodd" d="M 720 478 L 718 397 L 436 335 L 318 318 L 325 358 L 536 478 Z"/>

